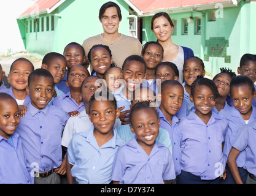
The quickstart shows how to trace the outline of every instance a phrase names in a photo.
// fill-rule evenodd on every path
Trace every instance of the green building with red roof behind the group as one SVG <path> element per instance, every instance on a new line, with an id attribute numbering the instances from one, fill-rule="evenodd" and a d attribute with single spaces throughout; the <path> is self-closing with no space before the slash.
<path id="1" fill-rule="evenodd" d="M 17 18 L 29 52 L 63 53 L 69 42 L 81 43 L 103 32 L 98 11 L 103 0 L 52 0 L 36 2 Z M 256 1 L 183 0 L 114 1 L 122 10 L 119 32 L 138 37 L 142 44 L 156 40 L 150 29 L 152 16 L 167 12 L 174 22 L 172 40 L 192 48 L 214 76 L 220 67 L 236 72 L 244 53 L 256 54 Z"/>

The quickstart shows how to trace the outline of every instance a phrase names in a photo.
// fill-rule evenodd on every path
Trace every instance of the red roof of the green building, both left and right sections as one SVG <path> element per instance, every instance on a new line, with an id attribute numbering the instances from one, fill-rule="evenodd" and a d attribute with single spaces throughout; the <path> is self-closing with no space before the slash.
<path id="1" fill-rule="evenodd" d="M 33 6 L 21 13 L 18 19 L 36 14 L 51 13 L 66 0 L 37 0 Z M 217 3 L 223 7 L 236 6 L 242 0 L 124 0 L 139 16 L 153 15 L 159 10 L 168 13 L 188 12 L 191 9 L 214 9 Z M 244 0 L 256 1 L 256 0 Z M 217 7 L 215 7 L 217 8 Z"/>

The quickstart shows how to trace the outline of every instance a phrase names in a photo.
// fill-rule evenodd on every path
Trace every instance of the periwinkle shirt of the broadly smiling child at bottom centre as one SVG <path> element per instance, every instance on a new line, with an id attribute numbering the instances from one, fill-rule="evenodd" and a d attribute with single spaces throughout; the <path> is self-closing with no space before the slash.
<path id="1" fill-rule="evenodd" d="M 161 143 L 155 142 L 148 156 L 133 137 L 115 154 L 111 179 L 120 184 L 163 184 L 175 178 L 173 157 Z"/>

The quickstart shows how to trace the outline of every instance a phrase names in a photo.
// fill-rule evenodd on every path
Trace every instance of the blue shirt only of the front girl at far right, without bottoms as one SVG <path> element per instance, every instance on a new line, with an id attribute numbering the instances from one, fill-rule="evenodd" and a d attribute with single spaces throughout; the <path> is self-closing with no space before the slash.
<path id="1" fill-rule="evenodd" d="M 228 154 L 230 153 L 230 149 L 235 141 L 236 135 L 238 134 L 238 130 L 240 127 L 245 126 L 246 123 L 242 118 L 241 114 L 235 107 L 231 107 L 230 110 L 225 111 L 223 116 L 228 120 L 228 130 L 225 136 L 225 145 L 223 147 L 223 154 L 225 160 L 228 160 Z M 256 108 L 252 107 L 252 114 L 249 118 L 249 123 L 256 121 Z M 246 163 L 246 153 L 243 151 L 239 153 L 238 157 L 236 158 L 236 164 L 238 167 L 244 167 Z"/>

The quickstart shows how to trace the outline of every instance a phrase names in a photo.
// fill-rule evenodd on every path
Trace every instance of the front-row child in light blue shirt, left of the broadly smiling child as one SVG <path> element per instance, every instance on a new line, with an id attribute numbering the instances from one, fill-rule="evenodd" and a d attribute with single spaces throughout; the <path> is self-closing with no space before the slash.
<path id="1" fill-rule="evenodd" d="M 95 94 L 89 102 L 89 118 L 93 127 L 74 134 L 66 159 L 68 183 L 111 183 L 112 164 L 117 149 L 124 141 L 114 127 L 120 109 L 113 94 Z M 75 179 L 75 181 L 74 181 Z"/>

